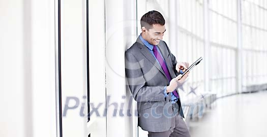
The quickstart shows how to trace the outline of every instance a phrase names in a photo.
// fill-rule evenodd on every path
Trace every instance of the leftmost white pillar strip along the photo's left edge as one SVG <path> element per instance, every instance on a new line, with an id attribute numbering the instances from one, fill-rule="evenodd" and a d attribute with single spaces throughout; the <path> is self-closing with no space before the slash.
<path id="1" fill-rule="evenodd" d="M 26 40 L 29 38 L 29 33 L 25 32 L 24 27 L 28 26 L 27 21 L 23 19 L 26 13 L 30 10 L 24 9 L 24 1 L 0 1 L 0 136 L 29 136 L 32 137 L 32 132 L 26 132 L 26 129 L 33 130 L 32 121 L 26 123 L 31 116 L 26 116 L 32 113 L 32 106 L 28 104 L 32 100 L 26 101 L 28 96 L 31 96 L 31 78 L 25 76 L 26 72 L 31 69 L 31 55 L 25 55 L 24 44 L 30 43 Z M 28 28 L 28 27 L 27 27 Z M 30 47 L 30 46 L 27 46 Z M 28 52 L 27 52 L 28 53 Z M 31 75 L 31 74 L 29 74 Z M 26 91 L 27 90 L 27 91 Z M 29 94 L 28 94 L 29 93 Z M 26 112 L 28 111 L 28 112 Z"/>

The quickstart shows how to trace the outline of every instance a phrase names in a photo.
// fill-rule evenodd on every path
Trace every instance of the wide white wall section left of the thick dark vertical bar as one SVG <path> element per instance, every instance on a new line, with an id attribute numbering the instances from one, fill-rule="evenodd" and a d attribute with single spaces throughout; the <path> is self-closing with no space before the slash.
<path id="1" fill-rule="evenodd" d="M 0 14 L 0 136 L 56 136 L 54 1 L 1 1 Z"/>

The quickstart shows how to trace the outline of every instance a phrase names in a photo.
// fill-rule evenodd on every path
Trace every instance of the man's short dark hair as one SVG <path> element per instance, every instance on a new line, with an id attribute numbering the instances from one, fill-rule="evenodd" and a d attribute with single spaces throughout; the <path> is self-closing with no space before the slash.
<path id="1" fill-rule="evenodd" d="M 150 29 L 153 24 L 165 25 L 165 19 L 158 11 L 149 11 L 141 17 L 141 28 Z"/>

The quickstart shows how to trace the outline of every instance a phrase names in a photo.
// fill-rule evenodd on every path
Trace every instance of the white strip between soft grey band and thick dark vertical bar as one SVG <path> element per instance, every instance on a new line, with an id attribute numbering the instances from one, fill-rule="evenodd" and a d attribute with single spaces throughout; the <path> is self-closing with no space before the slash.
<path id="1" fill-rule="evenodd" d="M 33 136 L 56 136 L 54 6 L 31 1 Z"/>

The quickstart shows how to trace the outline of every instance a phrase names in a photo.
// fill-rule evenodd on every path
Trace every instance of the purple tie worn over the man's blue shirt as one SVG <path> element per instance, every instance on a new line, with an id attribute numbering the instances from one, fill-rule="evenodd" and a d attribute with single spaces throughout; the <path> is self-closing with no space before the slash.
<path id="1" fill-rule="evenodd" d="M 154 53 L 154 55 L 156 56 L 157 60 L 159 61 L 160 65 L 161 65 L 161 67 L 162 67 L 162 70 L 163 70 L 163 72 L 165 73 L 165 75 L 167 76 L 168 80 L 171 81 L 170 73 L 169 73 L 168 68 L 167 68 L 167 66 L 166 66 L 166 64 L 165 64 L 165 61 L 163 60 L 163 58 L 161 57 L 160 53 L 159 53 L 158 50 L 157 50 L 157 46 L 154 46 L 154 47 L 153 47 L 153 53 Z M 177 91 L 176 91 L 176 90 L 174 90 L 172 93 L 173 93 L 177 98 L 179 97 L 179 95 L 177 94 Z"/>

